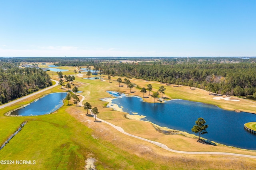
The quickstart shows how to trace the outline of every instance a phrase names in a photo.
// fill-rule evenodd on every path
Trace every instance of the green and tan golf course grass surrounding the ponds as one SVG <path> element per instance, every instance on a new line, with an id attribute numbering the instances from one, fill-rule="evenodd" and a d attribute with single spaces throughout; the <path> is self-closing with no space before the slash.
<path id="1" fill-rule="evenodd" d="M 69 69 L 67 74 L 74 74 L 75 67 L 60 67 Z M 55 72 L 50 72 L 53 79 Z M 64 72 L 64 74 L 66 74 Z M 169 148 L 184 151 L 214 151 L 256 155 L 255 151 L 242 150 L 227 146 L 210 146 L 196 142 L 196 138 L 183 135 L 165 135 L 157 132 L 151 123 L 126 119 L 123 112 L 105 108 L 106 102 L 101 98 L 111 97 L 107 90 L 130 93 L 126 85 L 115 81 L 111 77 L 102 76 L 106 81 L 87 80 L 76 76 L 74 84 L 79 86 L 80 93 L 92 107 L 98 107 L 98 117 L 114 125 L 124 128 L 128 133 L 166 144 Z M 121 77 L 122 79 L 124 77 Z M 131 79 L 139 87 L 146 87 L 151 83 L 153 91 L 164 85 L 159 82 L 145 82 Z M 224 109 L 255 112 L 255 103 L 246 99 L 240 102 L 216 101 L 207 91 L 201 89 L 190 90 L 190 87 L 167 86 L 165 97 L 169 99 L 187 99 L 208 104 L 218 105 Z M 45 93 L 65 91 L 60 86 Z M 140 89 L 133 88 L 132 95 L 143 96 Z M 152 92 L 151 92 L 152 93 Z M 36 95 L 21 104 L 27 104 L 42 96 Z M 148 97 L 148 93 L 145 94 Z M 235 98 L 235 97 L 234 97 Z M 154 100 L 149 97 L 147 102 Z M 158 101 L 159 102 L 159 101 Z M 10 142 L 0 150 L 0 160 L 35 160 L 36 164 L 0 165 L 0 169 L 84 169 L 87 158 L 95 158 L 97 169 L 254 169 L 256 160 L 236 156 L 217 155 L 186 155 L 168 152 L 154 144 L 126 136 L 104 123 L 94 122 L 93 117 L 85 115 L 83 107 L 67 106 L 65 101 L 54 114 L 34 117 L 6 117 L 4 113 L 17 108 L 14 105 L 1 110 L 0 142 L 4 142 L 23 121 L 28 121 L 24 128 Z"/>

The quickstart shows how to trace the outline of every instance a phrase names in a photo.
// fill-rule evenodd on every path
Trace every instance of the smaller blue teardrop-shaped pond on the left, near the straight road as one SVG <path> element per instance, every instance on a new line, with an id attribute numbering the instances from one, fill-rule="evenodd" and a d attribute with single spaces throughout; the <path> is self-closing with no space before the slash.
<path id="1" fill-rule="evenodd" d="M 10 113 L 10 115 L 38 116 L 50 114 L 58 110 L 63 105 L 63 99 L 68 93 L 50 93 L 44 97 L 30 103 L 22 109 Z"/>

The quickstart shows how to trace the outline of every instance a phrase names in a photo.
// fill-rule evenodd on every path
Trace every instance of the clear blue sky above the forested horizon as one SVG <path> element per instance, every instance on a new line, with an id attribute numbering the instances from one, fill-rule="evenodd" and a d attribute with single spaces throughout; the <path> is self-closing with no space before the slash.
<path id="1" fill-rule="evenodd" d="M 0 0 L 0 56 L 256 56 L 256 0 Z"/>

